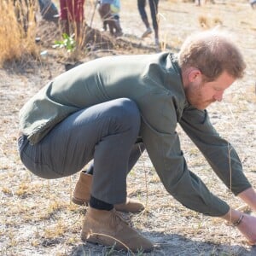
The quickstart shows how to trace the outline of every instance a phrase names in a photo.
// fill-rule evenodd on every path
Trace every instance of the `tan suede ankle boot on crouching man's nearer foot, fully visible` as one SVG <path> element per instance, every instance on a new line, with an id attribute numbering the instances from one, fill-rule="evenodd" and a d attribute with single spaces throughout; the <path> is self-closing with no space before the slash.
<path id="1" fill-rule="evenodd" d="M 153 244 L 131 228 L 115 211 L 97 210 L 89 207 L 85 214 L 81 239 L 115 249 L 132 252 L 151 252 Z"/>

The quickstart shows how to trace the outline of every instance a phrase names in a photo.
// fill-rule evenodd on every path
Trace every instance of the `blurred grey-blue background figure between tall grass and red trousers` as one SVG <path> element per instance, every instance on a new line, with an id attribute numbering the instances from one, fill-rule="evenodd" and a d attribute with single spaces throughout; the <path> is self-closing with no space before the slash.
<path id="1" fill-rule="evenodd" d="M 59 12 L 55 4 L 51 0 L 38 0 L 40 14 L 44 20 L 55 22 L 59 21 Z"/>

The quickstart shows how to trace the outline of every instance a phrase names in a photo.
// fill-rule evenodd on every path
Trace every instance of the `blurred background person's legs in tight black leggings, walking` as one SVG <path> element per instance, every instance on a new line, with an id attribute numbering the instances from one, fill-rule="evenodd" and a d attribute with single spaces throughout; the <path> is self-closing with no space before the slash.
<path id="1" fill-rule="evenodd" d="M 159 46 L 159 26 L 158 26 L 158 3 L 159 0 L 148 0 L 149 8 L 152 18 L 152 25 L 154 28 L 154 43 L 156 46 Z M 142 17 L 143 23 L 146 26 L 146 31 L 143 32 L 142 38 L 148 37 L 152 33 L 152 29 L 148 22 L 148 15 L 146 13 L 146 0 L 137 0 L 137 8 Z"/>

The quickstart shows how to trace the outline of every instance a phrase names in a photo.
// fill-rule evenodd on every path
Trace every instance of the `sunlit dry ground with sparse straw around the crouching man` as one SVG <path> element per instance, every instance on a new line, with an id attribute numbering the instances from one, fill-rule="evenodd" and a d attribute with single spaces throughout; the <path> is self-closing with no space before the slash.
<path id="1" fill-rule="evenodd" d="M 100 29 L 102 22 L 97 13 L 91 22 L 93 1 L 88 0 L 85 9 L 87 24 Z M 201 7 L 160 0 L 159 11 L 162 50 L 177 51 L 187 35 L 216 25 L 235 35 L 247 61 L 246 75 L 226 92 L 223 102 L 208 110 L 212 124 L 235 146 L 244 172 L 256 187 L 256 9 L 241 0 L 208 1 Z M 136 1 L 122 1 L 120 17 L 124 36 L 117 40 L 104 36 L 101 42 L 108 44 L 107 48 L 91 41 L 92 50 L 81 61 L 158 51 L 154 36 L 140 39 L 144 26 Z M 60 50 L 51 48 L 59 35 L 58 28 L 43 21 L 38 24 L 38 47 L 48 50 L 48 56 L 41 61 L 12 63 L 0 70 L 0 255 L 133 255 L 80 241 L 86 207 L 70 201 L 78 175 L 44 180 L 20 163 L 16 149 L 19 110 L 49 79 L 64 72 L 67 64 Z M 241 207 L 241 201 L 219 182 L 195 145 L 183 131 L 178 129 L 178 133 L 190 170 L 230 206 Z M 146 211 L 140 214 L 124 214 L 154 242 L 154 252 L 145 255 L 256 255 L 256 248 L 248 246 L 238 230 L 218 218 L 189 211 L 168 195 L 146 153 L 127 182 L 129 196 L 146 205 Z"/>

